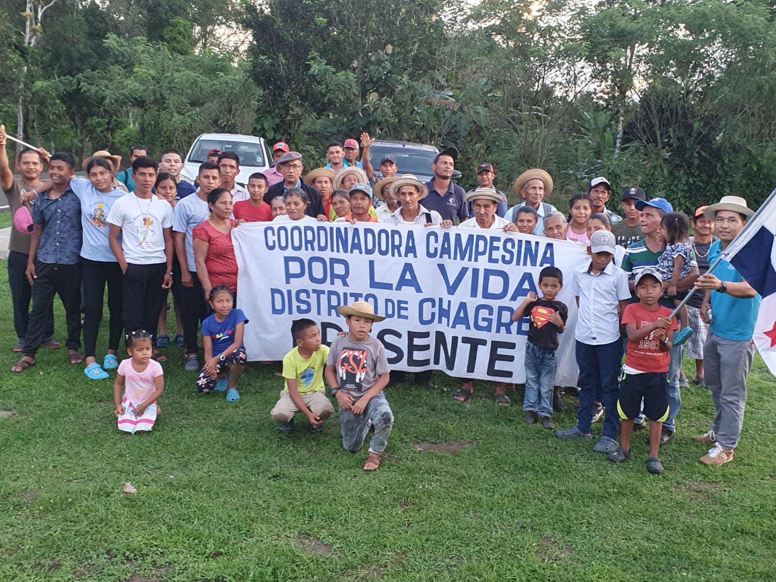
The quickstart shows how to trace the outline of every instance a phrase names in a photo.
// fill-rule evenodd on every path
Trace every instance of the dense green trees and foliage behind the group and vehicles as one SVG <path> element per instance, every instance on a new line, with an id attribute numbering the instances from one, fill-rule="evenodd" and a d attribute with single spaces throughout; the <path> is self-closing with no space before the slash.
<path id="1" fill-rule="evenodd" d="M 49 2 L 0 0 L 0 120 L 21 93 L 24 137 L 81 159 L 209 130 L 316 159 L 368 130 L 456 145 L 464 185 L 542 166 L 556 200 L 600 174 L 682 207 L 776 185 L 774 2 L 54 0 L 36 23 Z"/>

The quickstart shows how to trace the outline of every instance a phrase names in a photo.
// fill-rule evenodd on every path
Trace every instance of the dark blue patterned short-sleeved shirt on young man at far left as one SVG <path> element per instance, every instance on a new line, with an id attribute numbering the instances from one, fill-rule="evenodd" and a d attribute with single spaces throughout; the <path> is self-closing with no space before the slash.
<path id="1" fill-rule="evenodd" d="M 43 225 L 36 258 L 47 264 L 74 265 L 81 260 L 81 201 L 68 185 L 62 196 L 48 191 L 33 200 L 33 223 Z"/>

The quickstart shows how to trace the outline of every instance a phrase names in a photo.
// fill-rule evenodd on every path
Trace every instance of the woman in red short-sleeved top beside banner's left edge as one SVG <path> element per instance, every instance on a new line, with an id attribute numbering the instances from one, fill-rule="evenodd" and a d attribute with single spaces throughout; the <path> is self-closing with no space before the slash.
<path id="1" fill-rule="evenodd" d="M 237 293 L 237 259 L 234 258 L 232 229 L 237 223 L 231 219 L 232 194 L 216 188 L 207 195 L 210 218 L 192 230 L 196 274 L 205 296 L 210 289 L 226 285 Z"/>

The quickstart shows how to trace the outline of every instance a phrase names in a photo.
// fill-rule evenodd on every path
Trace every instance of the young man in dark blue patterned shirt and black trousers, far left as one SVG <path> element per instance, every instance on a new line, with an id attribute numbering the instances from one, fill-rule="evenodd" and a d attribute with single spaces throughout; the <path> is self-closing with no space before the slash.
<path id="1" fill-rule="evenodd" d="M 54 185 L 36 196 L 30 214 L 33 234 L 29 242 L 26 275 L 33 287 L 33 310 L 24 338 L 22 359 L 12 372 L 35 365 L 35 354 L 46 337 L 48 321 L 54 310 L 54 295 L 59 295 L 68 325 L 68 359 L 80 364 L 81 347 L 81 201 L 70 188 L 75 161 L 70 154 L 59 153 L 49 160 L 49 177 Z"/>

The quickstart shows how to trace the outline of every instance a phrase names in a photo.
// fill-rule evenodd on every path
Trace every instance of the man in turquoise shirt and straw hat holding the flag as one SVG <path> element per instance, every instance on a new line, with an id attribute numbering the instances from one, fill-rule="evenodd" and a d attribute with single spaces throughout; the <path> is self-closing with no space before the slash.
<path id="1" fill-rule="evenodd" d="M 739 234 L 753 215 L 747 201 L 739 196 L 722 196 L 717 204 L 708 206 L 703 215 L 714 220 L 719 241 L 708 249 L 708 264 Z M 701 457 L 705 465 L 722 465 L 733 459 L 747 406 L 747 376 L 752 368 L 754 345 L 752 334 L 760 309 L 760 296 L 729 262 L 698 277 L 695 283 L 703 289 L 701 317 L 711 324 L 703 347 L 706 387 L 714 400 L 712 429 L 695 440 L 712 449 Z M 711 317 L 708 310 L 711 310 Z"/>

